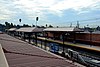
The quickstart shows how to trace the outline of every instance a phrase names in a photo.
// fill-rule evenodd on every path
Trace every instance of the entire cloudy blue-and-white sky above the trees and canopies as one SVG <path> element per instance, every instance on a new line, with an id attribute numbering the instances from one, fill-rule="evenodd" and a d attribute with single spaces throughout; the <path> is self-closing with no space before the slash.
<path id="1" fill-rule="evenodd" d="M 0 23 L 100 26 L 100 0 L 0 0 Z M 19 22 L 22 19 L 22 22 Z"/>

